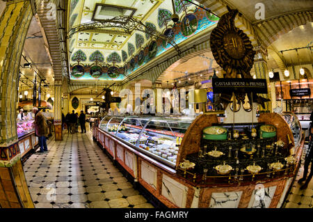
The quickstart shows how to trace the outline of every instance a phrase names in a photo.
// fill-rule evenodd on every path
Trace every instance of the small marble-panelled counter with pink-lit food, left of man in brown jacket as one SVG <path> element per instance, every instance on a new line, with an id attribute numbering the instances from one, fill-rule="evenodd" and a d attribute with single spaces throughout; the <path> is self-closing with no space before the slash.
<path id="1" fill-rule="evenodd" d="M 17 136 L 22 159 L 38 148 L 38 137 L 35 136 L 33 120 L 17 121 Z"/>

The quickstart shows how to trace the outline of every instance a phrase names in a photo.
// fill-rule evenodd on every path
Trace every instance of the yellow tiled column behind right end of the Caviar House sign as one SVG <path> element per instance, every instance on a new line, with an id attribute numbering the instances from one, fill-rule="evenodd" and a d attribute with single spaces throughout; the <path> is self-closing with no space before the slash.
<path id="1" fill-rule="evenodd" d="M 257 51 L 257 54 L 255 55 L 255 64 L 254 64 L 254 71 L 257 79 L 266 79 L 267 82 L 267 88 L 268 93 L 267 95 L 260 94 L 262 97 L 266 97 L 268 100 L 272 100 L 271 96 L 271 88 L 270 86 L 270 80 L 268 77 L 268 68 L 267 68 L 267 62 L 265 57 L 265 51 L 262 49 L 262 47 L 256 47 L 255 50 Z M 265 102 L 265 109 L 260 105 L 259 110 L 263 111 L 272 111 L 272 103 L 271 102 Z"/>

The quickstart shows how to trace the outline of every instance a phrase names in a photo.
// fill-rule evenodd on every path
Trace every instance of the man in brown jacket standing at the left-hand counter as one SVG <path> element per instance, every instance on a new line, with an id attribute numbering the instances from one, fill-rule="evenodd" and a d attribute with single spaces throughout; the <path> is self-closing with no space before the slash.
<path id="1" fill-rule="evenodd" d="M 48 151 L 47 147 L 47 134 L 48 134 L 48 126 L 47 120 L 43 113 L 38 111 L 37 107 L 33 108 L 33 113 L 35 113 L 35 136 L 39 137 L 39 145 L 40 145 L 40 152 Z"/>

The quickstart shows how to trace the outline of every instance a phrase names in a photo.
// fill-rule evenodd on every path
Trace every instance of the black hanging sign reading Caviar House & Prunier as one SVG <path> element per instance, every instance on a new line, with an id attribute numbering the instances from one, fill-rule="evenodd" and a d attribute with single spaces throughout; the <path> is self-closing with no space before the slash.
<path id="1" fill-rule="evenodd" d="M 214 93 L 267 93 L 266 79 L 212 79 Z"/>

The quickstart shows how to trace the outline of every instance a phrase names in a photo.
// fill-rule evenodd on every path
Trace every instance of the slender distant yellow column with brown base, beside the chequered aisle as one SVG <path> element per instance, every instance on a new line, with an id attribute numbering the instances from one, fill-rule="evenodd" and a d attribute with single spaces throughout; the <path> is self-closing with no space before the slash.
<path id="1" fill-rule="evenodd" d="M 62 141 L 62 80 L 54 79 L 54 134 Z"/>

